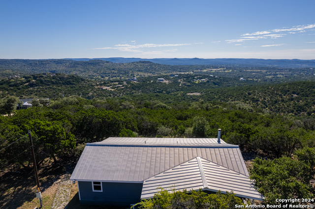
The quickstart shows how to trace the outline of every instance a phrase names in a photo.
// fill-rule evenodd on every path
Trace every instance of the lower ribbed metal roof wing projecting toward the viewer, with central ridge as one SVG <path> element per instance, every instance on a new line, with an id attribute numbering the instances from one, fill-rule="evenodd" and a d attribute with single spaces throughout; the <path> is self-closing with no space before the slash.
<path id="1" fill-rule="evenodd" d="M 262 200 L 248 176 L 201 157 L 195 157 L 143 182 L 141 199 L 153 198 L 162 187 L 166 190 L 210 190 L 231 192 L 238 197 Z"/>

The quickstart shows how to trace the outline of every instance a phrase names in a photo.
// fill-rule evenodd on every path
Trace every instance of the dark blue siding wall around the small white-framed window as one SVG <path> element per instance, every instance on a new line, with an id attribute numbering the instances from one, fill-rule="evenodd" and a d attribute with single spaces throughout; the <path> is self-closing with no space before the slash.
<path id="1" fill-rule="evenodd" d="M 80 204 L 129 206 L 140 202 L 142 183 L 102 182 L 103 192 L 94 192 L 92 182 L 78 182 Z"/>

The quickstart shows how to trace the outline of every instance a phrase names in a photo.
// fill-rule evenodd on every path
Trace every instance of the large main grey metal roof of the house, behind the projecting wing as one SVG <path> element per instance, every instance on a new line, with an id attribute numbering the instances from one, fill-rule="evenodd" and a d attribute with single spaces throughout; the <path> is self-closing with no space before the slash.
<path id="1" fill-rule="evenodd" d="M 143 182 L 195 157 L 249 176 L 239 147 L 222 140 L 113 137 L 88 143 L 70 179 Z"/>

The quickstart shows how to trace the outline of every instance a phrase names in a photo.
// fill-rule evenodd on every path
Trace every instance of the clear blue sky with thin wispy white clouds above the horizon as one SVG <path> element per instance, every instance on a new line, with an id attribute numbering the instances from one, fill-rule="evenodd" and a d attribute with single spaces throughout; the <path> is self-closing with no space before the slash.
<path id="1" fill-rule="evenodd" d="M 0 58 L 315 59 L 314 0 L 0 0 Z"/>

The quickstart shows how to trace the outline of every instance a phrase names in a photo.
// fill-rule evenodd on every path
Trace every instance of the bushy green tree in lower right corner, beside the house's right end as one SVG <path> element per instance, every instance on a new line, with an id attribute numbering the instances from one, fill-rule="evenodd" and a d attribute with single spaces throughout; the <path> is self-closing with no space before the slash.
<path id="1" fill-rule="evenodd" d="M 276 199 L 314 198 L 315 148 L 296 152 L 295 159 L 280 157 L 273 161 L 256 158 L 250 170 L 255 186 L 267 204 L 280 204 Z M 298 203 L 296 203 L 298 204 Z M 302 203 L 304 204 L 304 203 Z"/>

